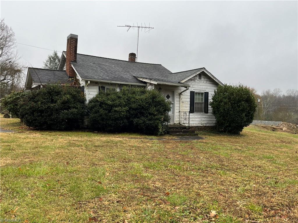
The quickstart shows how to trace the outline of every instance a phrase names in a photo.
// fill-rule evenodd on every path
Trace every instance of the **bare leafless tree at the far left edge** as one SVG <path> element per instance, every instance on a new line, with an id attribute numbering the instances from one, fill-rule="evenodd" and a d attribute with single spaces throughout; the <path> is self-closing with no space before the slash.
<path id="1" fill-rule="evenodd" d="M 19 62 L 15 33 L 0 21 L 0 98 L 19 90 L 24 81 L 25 66 Z"/>

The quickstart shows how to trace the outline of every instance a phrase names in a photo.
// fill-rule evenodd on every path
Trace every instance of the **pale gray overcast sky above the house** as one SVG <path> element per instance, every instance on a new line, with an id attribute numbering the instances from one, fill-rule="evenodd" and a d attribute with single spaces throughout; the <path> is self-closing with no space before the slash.
<path id="1" fill-rule="evenodd" d="M 258 92 L 298 88 L 297 14 L 297 1 L 1 1 L 18 43 L 63 51 L 73 33 L 78 53 L 127 60 L 137 31 L 117 25 L 150 22 L 139 62 L 172 72 L 205 67 Z M 18 52 L 33 67 L 51 53 L 25 45 Z"/>

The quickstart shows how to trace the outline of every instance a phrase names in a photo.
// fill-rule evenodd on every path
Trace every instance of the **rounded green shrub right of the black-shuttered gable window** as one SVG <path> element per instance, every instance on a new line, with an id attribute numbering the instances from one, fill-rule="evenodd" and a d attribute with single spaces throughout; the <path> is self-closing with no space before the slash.
<path id="1" fill-rule="evenodd" d="M 209 104 L 218 129 L 232 134 L 239 134 L 252 123 L 257 108 L 254 95 L 241 84 L 219 85 Z"/>

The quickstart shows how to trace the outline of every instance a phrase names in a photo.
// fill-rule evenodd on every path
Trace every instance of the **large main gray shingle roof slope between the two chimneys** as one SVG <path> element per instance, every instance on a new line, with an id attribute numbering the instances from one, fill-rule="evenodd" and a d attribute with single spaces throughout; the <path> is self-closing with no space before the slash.
<path id="1" fill-rule="evenodd" d="M 72 63 L 82 79 L 119 81 L 142 84 L 136 77 L 167 80 L 170 70 L 161 64 L 129 62 L 105 57 L 77 54 L 77 63 Z"/>

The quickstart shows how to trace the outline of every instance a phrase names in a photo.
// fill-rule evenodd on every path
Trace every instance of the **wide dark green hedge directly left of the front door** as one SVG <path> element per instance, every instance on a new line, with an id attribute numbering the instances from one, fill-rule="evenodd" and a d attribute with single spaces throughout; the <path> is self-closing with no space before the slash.
<path id="1" fill-rule="evenodd" d="M 160 135 L 166 130 L 171 106 L 160 92 L 135 87 L 100 91 L 87 108 L 93 130 Z"/>

